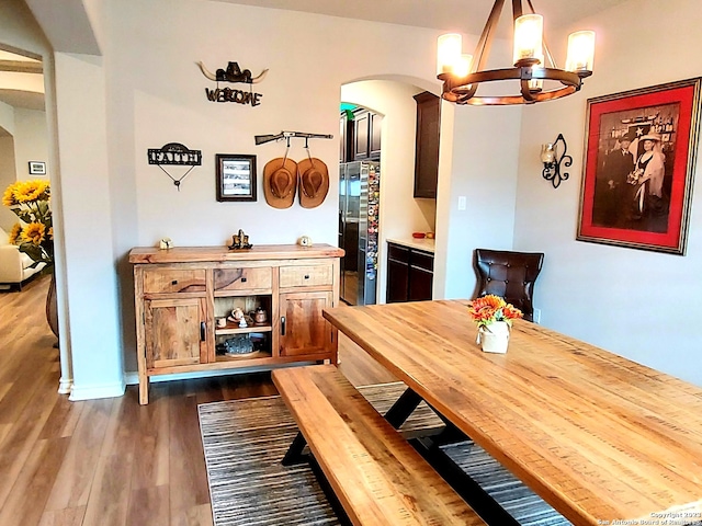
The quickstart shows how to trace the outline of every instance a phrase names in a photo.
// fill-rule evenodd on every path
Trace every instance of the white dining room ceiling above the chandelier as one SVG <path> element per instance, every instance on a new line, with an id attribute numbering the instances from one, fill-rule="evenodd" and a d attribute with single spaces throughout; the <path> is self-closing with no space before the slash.
<path id="1" fill-rule="evenodd" d="M 430 27 L 480 34 L 492 8 L 492 0 L 217 0 L 228 3 L 287 9 L 329 14 L 346 19 Z M 544 15 L 545 28 L 575 21 L 629 0 L 533 0 L 534 10 Z M 529 10 L 523 2 L 523 9 Z M 511 32 L 511 2 L 507 0 L 500 18 L 500 36 Z M 584 27 L 585 28 L 585 27 Z"/>

